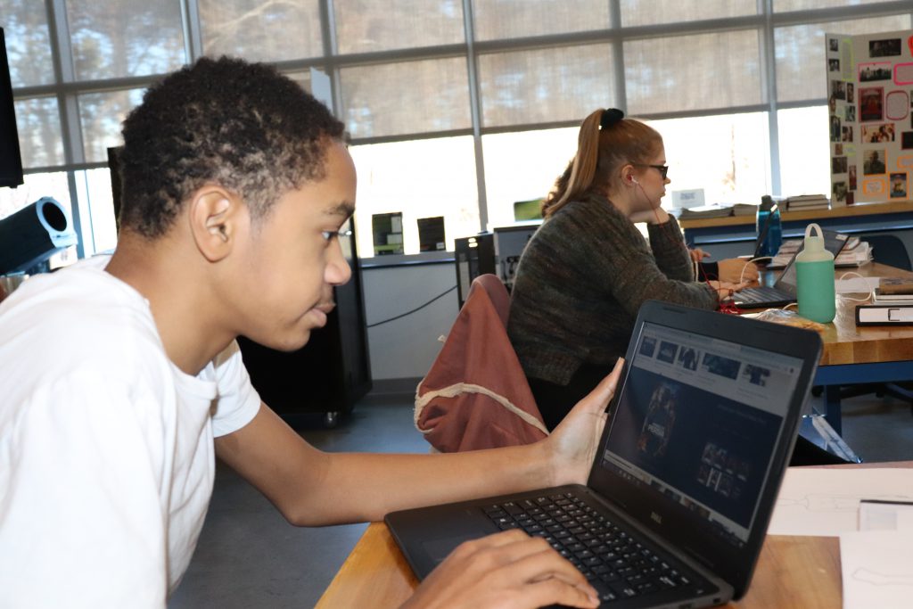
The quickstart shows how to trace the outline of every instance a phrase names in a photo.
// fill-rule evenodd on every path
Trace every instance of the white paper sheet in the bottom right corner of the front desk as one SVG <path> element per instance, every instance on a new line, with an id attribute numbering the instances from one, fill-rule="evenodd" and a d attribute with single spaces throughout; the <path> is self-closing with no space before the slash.
<path id="1" fill-rule="evenodd" d="M 908 608 L 913 597 L 913 531 L 842 534 L 840 568 L 844 609 Z"/>

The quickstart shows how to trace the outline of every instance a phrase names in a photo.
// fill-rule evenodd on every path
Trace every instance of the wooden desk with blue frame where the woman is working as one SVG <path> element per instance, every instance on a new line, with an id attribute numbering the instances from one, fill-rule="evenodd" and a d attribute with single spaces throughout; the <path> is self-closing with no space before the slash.
<path id="1" fill-rule="evenodd" d="M 837 268 L 863 277 L 913 277 L 899 268 L 870 263 L 859 268 Z M 864 294 L 847 295 L 856 299 Z M 856 327 L 855 306 L 865 304 L 837 295 L 837 315 L 822 332 L 824 352 L 814 384 L 824 387 L 824 418 L 841 434 L 840 386 L 913 380 L 913 326 Z"/>

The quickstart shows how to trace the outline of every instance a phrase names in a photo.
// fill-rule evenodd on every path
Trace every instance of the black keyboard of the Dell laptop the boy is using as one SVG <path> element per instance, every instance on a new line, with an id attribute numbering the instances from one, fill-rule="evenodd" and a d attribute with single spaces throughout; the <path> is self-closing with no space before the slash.
<path id="1" fill-rule="evenodd" d="M 635 541 L 572 493 L 522 499 L 484 508 L 499 529 L 542 537 L 577 567 L 603 601 L 687 585 L 684 574 Z"/>

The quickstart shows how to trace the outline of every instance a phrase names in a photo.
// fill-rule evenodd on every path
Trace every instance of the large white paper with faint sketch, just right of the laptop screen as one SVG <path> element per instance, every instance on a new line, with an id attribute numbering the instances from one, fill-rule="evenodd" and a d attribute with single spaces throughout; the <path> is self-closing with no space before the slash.
<path id="1" fill-rule="evenodd" d="M 836 537 L 856 530 L 859 499 L 913 500 L 913 469 L 790 467 L 767 532 Z"/>

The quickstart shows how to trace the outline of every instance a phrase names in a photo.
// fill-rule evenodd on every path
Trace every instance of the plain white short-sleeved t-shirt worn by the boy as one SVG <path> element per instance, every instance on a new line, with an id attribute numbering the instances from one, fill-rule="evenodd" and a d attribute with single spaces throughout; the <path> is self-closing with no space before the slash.
<path id="1" fill-rule="evenodd" d="M 197 376 L 95 257 L 0 304 L 0 607 L 163 607 L 260 398 L 236 342 Z"/>

